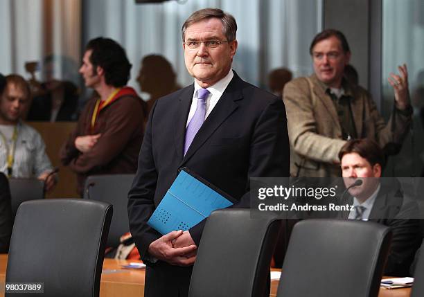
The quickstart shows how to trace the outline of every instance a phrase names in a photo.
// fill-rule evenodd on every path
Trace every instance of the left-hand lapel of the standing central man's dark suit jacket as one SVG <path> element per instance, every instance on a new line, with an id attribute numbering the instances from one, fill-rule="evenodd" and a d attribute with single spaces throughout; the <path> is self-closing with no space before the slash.
<path id="1" fill-rule="evenodd" d="M 175 150 L 177 150 L 179 161 L 183 159 L 184 137 L 186 136 L 186 121 L 188 117 L 188 111 L 190 111 L 191 101 L 193 99 L 193 92 L 194 85 L 192 84 L 191 86 L 186 87 L 177 99 L 179 102 L 173 123 L 175 123 Z"/>

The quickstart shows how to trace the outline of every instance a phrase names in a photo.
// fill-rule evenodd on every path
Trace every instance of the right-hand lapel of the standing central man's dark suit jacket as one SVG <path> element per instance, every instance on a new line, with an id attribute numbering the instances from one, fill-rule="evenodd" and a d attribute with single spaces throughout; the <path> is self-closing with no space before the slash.
<path id="1" fill-rule="evenodd" d="M 199 148 L 202 147 L 202 145 L 209 139 L 211 134 L 220 127 L 224 120 L 226 120 L 233 111 L 238 108 L 238 104 L 235 101 L 242 99 L 240 87 L 241 82 L 242 80 L 236 73 L 234 73 L 234 77 L 227 86 L 227 89 L 225 89 L 224 93 L 222 93 L 220 100 L 211 111 L 211 114 L 209 114 L 206 118 L 202 127 L 200 127 L 190 147 L 188 147 L 188 151 L 179 167 L 184 165 L 184 163 L 186 163 L 188 159 L 190 159 L 191 156 L 193 156 L 193 154 L 195 154 L 195 152 L 197 152 L 197 150 L 199 150 Z"/>

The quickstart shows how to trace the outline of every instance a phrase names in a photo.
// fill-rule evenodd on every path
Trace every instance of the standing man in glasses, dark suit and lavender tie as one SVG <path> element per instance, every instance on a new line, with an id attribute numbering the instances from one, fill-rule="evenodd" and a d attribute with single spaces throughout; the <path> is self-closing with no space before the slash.
<path id="1" fill-rule="evenodd" d="M 146 222 L 177 177 L 189 168 L 249 205 L 250 177 L 287 177 L 290 167 L 282 100 L 232 71 L 235 19 L 220 9 L 194 12 L 182 27 L 194 84 L 154 103 L 128 194 L 130 230 L 148 264 L 145 296 L 187 296 L 204 221 L 161 235 Z M 249 236 L 248 230 L 240 230 Z"/>

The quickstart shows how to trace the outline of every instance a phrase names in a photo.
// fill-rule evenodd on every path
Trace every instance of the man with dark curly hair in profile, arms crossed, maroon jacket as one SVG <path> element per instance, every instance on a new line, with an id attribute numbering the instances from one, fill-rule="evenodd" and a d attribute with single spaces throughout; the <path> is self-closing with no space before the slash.
<path id="1" fill-rule="evenodd" d="M 80 195 L 89 175 L 136 172 L 145 104 L 125 86 L 131 66 L 112 39 L 91 39 L 85 48 L 80 73 L 98 96 L 87 102 L 60 153 L 62 163 L 78 174 Z"/>

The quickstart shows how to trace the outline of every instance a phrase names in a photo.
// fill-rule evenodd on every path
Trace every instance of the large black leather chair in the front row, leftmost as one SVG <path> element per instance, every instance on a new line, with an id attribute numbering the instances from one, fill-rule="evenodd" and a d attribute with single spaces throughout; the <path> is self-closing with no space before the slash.
<path id="1" fill-rule="evenodd" d="M 110 204 L 84 199 L 22 203 L 6 282 L 43 282 L 46 297 L 98 296 L 112 211 Z"/>

